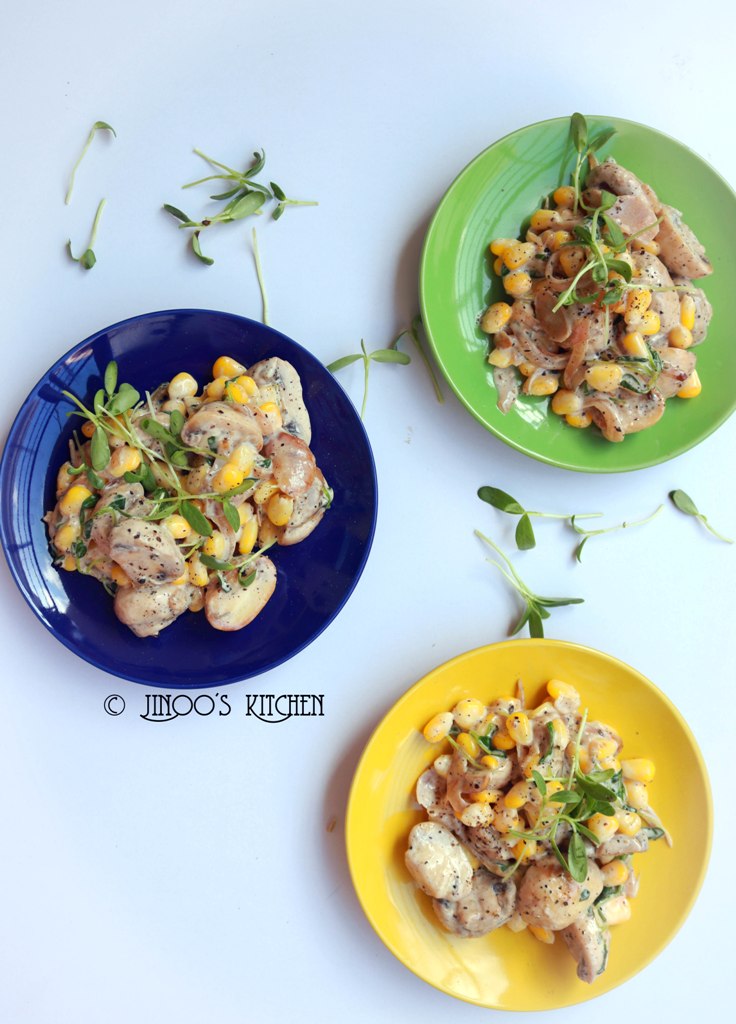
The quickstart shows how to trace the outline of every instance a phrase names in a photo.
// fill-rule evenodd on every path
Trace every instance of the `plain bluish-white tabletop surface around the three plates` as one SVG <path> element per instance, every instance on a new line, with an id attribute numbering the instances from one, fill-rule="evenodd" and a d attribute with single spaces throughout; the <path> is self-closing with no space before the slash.
<path id="1" fill-rule="evenodd" d="M 260 315 L 250 224 L 207 239 L 217 259 L 207 268 L 160 211 L 202 201 L 178 190 L 204 173 L 193 145 L 235 163 L 263 145 L 276 180 L 319 200 L 259 234 L 272 325 L 329 361 L 361 337 L 385 345 L 407 324 L 434 207 L 472 157 L 516 127 L 576 109 L 631 118 L 733 181 L 727 11 L 619 2 L 586 5 L 573 22 L 569 5 L 529 0 L 7 5 L 2 434 L 47 367 L 104 325 L 180 306 Z M 96 139 L 64 207 L 97 119 L 119 137 Z M 84 243 L 101 196 L 99 261 L 85 273 L 62 247 L 70 236 Z M 359 403 L 360 371 L 341 380 Z M 506 449 L 452 395 L 438 406 L 418 361 L 375 368 L 372 387 L 380 520 L 364 575 L 311 647 L 229 689 L 239 711 L 253 687 L 323 692 L 323 719 L 147 724 L 143 689 L 61 647 L 3 563 L 3 1022 L 483 1018 L 409 974 L 361 914 L 343 853 L 359 752 L 416 679 L 504 638 L 512 621 L 514 598 L 472 530 L 511 550 L 514 521 L 481 506 L 478 485 L 537 508 L 605 510 L 610 522 L 652 511 L 680 486 L 734 536 L 736 421 L 669 464 L 592 477 Z M 723 713 L 733 700 L 736 551 L 670 508 L 642 530 L 592 542 L 581 566 L 565 526 L 543 524 L 537 536 L 544 546 L 519 558 L 529 583 L 586 598 L 556 611 L 549 634 L 608 651 L 665 690 L 701 744 L 717 810 L 709 874 L 682 932 L 643 974 L 565 1018 L 712 1013 L 731 991 L 712 951 L 719 933 L 730 947 L 733 931 Z M 128 701 L 120 718 L 103 713 L 111 692 Z"/>

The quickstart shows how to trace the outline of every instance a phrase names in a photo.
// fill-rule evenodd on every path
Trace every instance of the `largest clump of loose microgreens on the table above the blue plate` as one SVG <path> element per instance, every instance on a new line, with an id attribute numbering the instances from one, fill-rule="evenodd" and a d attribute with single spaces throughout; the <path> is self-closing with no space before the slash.
<path id="1" fill-rule="evenodd" d="M 228 167 L 227 164 L 222 164 L 220 161 L 208 157 L 201 150 L 194 150 L 193 152 L 198 157 L 202 157 L 203 160 L 211 164 L 213 168 L 216 168 L 217 173 L 208 174 L 204 178 L 198 178 L 197 181 L 189 181 L 181 187 L 193 188 L 196 185 L 209 181 L 224 181 L 229 187 L 224 191 L 215 193 L 210 196 L 210 199 L 217 203 L 222 202 L 225 205 L 216 213 L 203 217 L 202 220 L 194 220 L 188 214 L 184 213 L 183 210 L 172 206 L 170 203 L 164 204 L 164 210 L 180 221 L 179 227 L 191 229 L 191 251 L 207 266 L 211 266 L 214 260 L 211 256 L 206 256 L 202 251 L 200 236 L 205 228 L 212 227 L 214 224 L 226 224 L 235 220 L 244 220 L 246 217 L 260 215 L 264 212 L 268 203 L 274 204 L 271 211 L 271 216 L 274 220 L 279 219 L 287 207 L 318 205 L 314 200 L 289 199 L 284 189 L 274 181 L 270 181 L 268 185 L 264 185 L 262 182 L 256 180 L 256 175 L 260 174 L 266 162 L 264 150 L 253 154 L 253 163 L 244 171 L 237 171 L 233 167 Z"/>

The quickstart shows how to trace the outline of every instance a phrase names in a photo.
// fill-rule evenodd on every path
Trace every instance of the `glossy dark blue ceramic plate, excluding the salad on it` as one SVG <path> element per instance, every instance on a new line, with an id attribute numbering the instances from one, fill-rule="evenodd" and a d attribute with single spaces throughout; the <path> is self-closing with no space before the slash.
<path id="1" fill-rule="evenodd" d="M 270 355 L 294 365 L 312 421 L 311 447 L 335 490 L 332 509 L 302 544 L 278 548 L 273 597 L 250 626 L 218 633 L 185 613 L 156 638 L 118 622 L 97 581 L 57 571 L 42 516 L 55 503 L 73 408 L 62 390 L 90 397 L 117 359 L 120 379 L 153 390 L 179 371 L 209 378 L 219 355 L 246 366 Z M 313 355 L 271 328 L 231 313 L 171 309 L 123 321 L 63 355 L 39 381 L 10 430 L 0 465 L 0 540 L 10 571 L 43 625 L 105 672 L 166 688 L 221 686 L 280 665 L 310 643 L 350 596 L 376 527 L 376 468 L 349 398 Z"/>

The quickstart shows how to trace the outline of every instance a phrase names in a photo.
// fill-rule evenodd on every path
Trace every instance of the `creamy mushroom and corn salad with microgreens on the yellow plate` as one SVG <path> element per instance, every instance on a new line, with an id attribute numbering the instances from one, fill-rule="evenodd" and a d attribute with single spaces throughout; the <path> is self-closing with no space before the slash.
<path id="1" fill-rule="evenodd" d="M 559 933 L 593 982 L 610 928 L 632 913 L 634 855 L 672 843 L 649 804 L 653 762 L 619 759 L 615 730 L 554 679 L 537 708 L 519 683 L 516 697 L 461 700 L 424 736 L 450 749 L 417 783 L 427 820 L 409 833 L 405 863 L 440 924 L 464 938 L 504 925 L 545 943 Z"/>

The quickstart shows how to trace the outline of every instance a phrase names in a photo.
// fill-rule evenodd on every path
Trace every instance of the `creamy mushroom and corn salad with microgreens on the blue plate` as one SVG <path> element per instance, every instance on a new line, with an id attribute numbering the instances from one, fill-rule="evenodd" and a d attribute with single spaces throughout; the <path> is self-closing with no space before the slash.
<path id="1" fill-rule="evenodd" d="M 54 564 L 99 580 L 139 637 L 186 610 L 243 629 L 276 586 L 266 552 L 309 537 L 332 502 L 294 367 L 223 355 L 212 377 L 199 395 L 179 373 L 141 398 L 111 362 L 91 409 L 64 392 L 85 422 L 44 517 Z"/>

